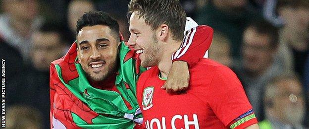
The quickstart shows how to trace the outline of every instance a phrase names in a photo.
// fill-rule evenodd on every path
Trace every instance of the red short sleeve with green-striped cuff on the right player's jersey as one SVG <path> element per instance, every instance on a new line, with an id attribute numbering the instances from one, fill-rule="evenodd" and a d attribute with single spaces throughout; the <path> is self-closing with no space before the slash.
<path id="1" fill-rule="evenodd" d="M 208 91 L 207 103 L 224 126 L 243 129 L 257 123 L 243 86 L 230 68 L 217 67 Z"/>

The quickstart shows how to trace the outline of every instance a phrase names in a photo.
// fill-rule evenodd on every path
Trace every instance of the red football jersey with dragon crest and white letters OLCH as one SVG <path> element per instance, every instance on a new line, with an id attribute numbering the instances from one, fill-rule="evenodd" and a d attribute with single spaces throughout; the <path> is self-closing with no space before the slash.
<path id="1" fill-rule="evenodd" d="M 236 74 L 226 66 L 201 59 L 190 67 L 186 93 L 171 95 L 160 87 L 157 66 L 142 73 L 137 100 L 147 129 L 245 128 L 257 119 Z"/>

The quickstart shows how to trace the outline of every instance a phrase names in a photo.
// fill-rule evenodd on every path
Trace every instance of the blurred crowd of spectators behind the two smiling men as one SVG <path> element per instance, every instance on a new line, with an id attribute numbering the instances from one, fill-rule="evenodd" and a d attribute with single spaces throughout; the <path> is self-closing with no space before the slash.
<path id="1" fill-rule="evenodd" d="M 309 0 L 180 0 L 214 29 L 209 58 L 233 69 L 261 126 L 309 128 Z M 7 129 L 49 129 L 49 65 L 75 41 L 84 12 L 115 18 L 125 41 L 129 0 L 1 0 Z M 27 128 L 25 128 L 27 127 Z"/>

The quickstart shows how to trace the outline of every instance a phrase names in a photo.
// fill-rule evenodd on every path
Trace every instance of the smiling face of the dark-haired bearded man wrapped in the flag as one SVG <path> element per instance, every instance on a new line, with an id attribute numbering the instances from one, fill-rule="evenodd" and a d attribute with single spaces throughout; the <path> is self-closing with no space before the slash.
<path id="1" fill-rule="evenodd" d="M 88 79 L 103 81 L 115 72 L 119 42 L 105 25 L 83 27 L 77 35 L 78 59 Z"/>

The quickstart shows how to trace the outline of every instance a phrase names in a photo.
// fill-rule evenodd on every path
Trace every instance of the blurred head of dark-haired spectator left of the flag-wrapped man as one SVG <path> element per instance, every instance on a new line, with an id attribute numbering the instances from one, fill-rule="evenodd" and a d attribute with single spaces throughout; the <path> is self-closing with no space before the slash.
<path id="1" fill-rule="evenodd" d="M 52 23 L 44 24 L 33 34 L 31 61 L 36 70 L 48 72 L 51 62 L 64 55 L 68 42 L 65 35 L 60 26 Z"/>

